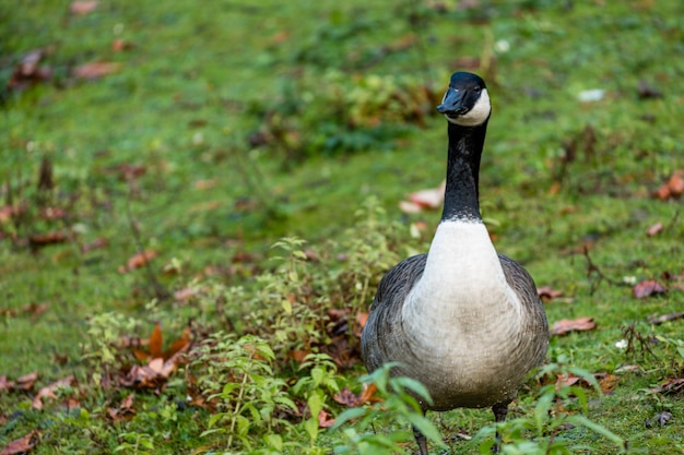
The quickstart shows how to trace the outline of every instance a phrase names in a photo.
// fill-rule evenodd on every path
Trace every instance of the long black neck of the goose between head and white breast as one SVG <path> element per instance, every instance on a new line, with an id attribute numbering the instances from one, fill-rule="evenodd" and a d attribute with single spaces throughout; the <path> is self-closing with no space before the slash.
<path id="1" fill-rule="evenodd" d="M 479 204 L 480 158 L 487 121 L 476 127 L 449 122 L 447 188 L 441 220 L 482 220 Z"/>

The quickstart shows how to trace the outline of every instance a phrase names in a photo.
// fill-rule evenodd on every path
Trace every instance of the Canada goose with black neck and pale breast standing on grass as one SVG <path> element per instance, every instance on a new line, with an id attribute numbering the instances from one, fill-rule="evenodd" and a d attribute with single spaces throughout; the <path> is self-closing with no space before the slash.
<path id="1" fill-rule="evenodd" d="M 480 157 L 492 112 L 484 81 L 457 72 L 437 107 L 448 120 L 444 212 L 427 254 L 409 258 L 380 282 L 362 334 L 368 371 L 423 383 L 423 411 L 492 407 L 506 419 L 527 373 L 542 362 L 549 325 L 528 272 L 497 254 L 479 206 Z M 414 429 L 422 455 L 423 434 Z M 495 450 L 498 450 L 498 438 Z"/>

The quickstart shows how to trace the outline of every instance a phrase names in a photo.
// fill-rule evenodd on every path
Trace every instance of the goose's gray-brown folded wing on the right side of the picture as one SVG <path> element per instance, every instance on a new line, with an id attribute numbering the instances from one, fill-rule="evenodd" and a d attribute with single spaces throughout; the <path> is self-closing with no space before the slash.
<path id="1" fill-rule="evenodd" d="M 498 259 L 502 263 L 508 286 L 514 289 L 520 302 L 522 302 L 523 333 L 531 345 L 530 347 L 535 351 L 534 356 L 532 356 L 535 359 L 535 363 L 530 366 L 531 368 L 540 364 L 546 355 L 549 346 L 549 322 L 546 321 L 546 313 L 544 312 L 544 307 L 536 292 L 534 279 L 532 279 L 528 271 L 504 254 L 499 253 Z"/>

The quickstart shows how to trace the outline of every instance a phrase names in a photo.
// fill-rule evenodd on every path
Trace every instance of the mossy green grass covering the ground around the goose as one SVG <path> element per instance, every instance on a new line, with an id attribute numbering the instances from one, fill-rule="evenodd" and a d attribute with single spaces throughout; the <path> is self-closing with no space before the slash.
<path id="1" fill-rule="evenodd" d="M 365 301 L 356 303 L 366 308 L 389 262 L 428 244 L 438 214 L 404 215 L 397 203 L 441 180 L 445 124 L 431 96 L 441 95 L 451 71 L 465 69 L 485 76 L 494 103 L 481 194 L 497 249 L 523 263 L 539 286 L 564 292 L 546 306 L 551 322 L 586 315 L 598 323 L 554 337 L 550 361 L 565 356 L 587 371 L 621 376 L 610 395 L 591 395 L 587 415 L 628 440 L 630 453 L 684 452 L 681 392 L 651 392 L 682 378 L 674 344 L 651 340 L 682 339 L 682 320 L 646 322 L 681 311 L 684 301 L 681 283 L 661 277 L 681 273 L 681 200 L 652 197 L 683 166 L 682 5 L 473 3 L 126 0 L 101 1 L 84 15 L 62 2 L 0 7 L 3 81 L 38 48 L 52 74 L 2 97 L 2 205 L 23 212 L 0 224 L 0 375 L 38 371 L 39 388 L 73 373 L 79 385 L 64 397 L 80 403 L 78 411 L 35 410 L 35 388 L 0 391 L 0 446 L 39 429 L 35 453 L 219 450 L 215 434 L 200 436 L 215 410 L 176 406 L 188 391 L 180 375 L 161 396 L 138 391 L 134 418 L 97 423 L 128 391 L 92 383 L 108 364 L 83 358 L 104 349 L 87 334 L 93 321 L 102 318 L 115 337 L 146 338 L 162 321 L 173 339 L 192 319 L 200 332 L 233 324 L 269 338 L 281 320 L 259 307 L 264 283 L 309 303 L 328 298 L 335 308 L 350 307 L 359 298 L 356 284 L 367 283 Z M 130 47 L 117 51 L 116 40 Z M 73 75 L 92 61 L 119 69 L 95 80 Z M 595 88 L 604 91 L 600 100 L 578 100 Z M 44 158 L 52 190 L 37 188 Z M 127 178 L 132 167 L 142 175 Z M 355 216 L 373 197 L 386 211 L 381 223 L 399 223 L 381 231 L 381 241 Z M 66 216 L 50 218 L 48 207 Z M 416 221 L 428 226 L 417 238 L 410 230 Z M 663 230 L 647 237 L 656 223 Z M 69 241 L 27 243 L 49 232 L 67 232 Z M 275 271 L 270 247 L 283 236 L 306 239 L 304 248 L 320 258 L 307 263 L 306 279 L 285 288 L 278 274 L 263 278 Z M 106 247 L 83 252 L 97 239 Z M 358 239 L 389 251 L 366 251 L 364 259 Z M 598 272 L 581 253 L 589 243 Z M 150 271 L 165 290 L 194 280 L 205 296 L 192 304 L 155 300 L 145 267 L 118 272 L 141 248 L 157 252 Z M 340 277 L 349 274 L 353 286 L 345 287 Z M 620 285 L 624 277 L 659 279 L 670 292 L 637 300 Z M 223 286 L 241 286 L 244 297 L 225 297 Z M 250 325 L 248 303 L 260 308 L 266 326 Z M 323 327 L 309 328 L 325 338 L 321 321 Z M 658 359 L 615 347 L 632 323 Z M 625 369 L 630 364 L 637 368 Z M 282 358 L 270 368 L 273 381 L 306 376 Z M 354 388 L 361 374 L 359 366 L 341 369 L 335 381 Z M 533 390 L 522 391 L 514 417 L 530 415 Z M 311 399 L 305 395 L 297 399 Z M 327 409 L 341 411 L 331 395 Z M 664 410 L 673 416 L 668 423 L 645 426 Z M 432 417 L 443 435 L 472 435 L 491 420 L 473 410 Z M 306 446 L 310 433 L 290 431 L 288 442 Z M 335 434 L 321 430 L 316 444 L 330 451 Z M 581 428 L 563 434 L 590 447 L 583 452 L 615 451 Z M 474 447 L 450 444 L 453 453 Z"/>

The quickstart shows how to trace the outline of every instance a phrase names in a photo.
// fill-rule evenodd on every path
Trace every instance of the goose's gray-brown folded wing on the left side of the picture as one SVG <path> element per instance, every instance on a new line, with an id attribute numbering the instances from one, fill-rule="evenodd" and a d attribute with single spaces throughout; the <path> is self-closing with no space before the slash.
<path id="1" fill-rule="evenodd" d="M 380 280 L 361 335 L 361 357 L 369 372 L 396 361 L 388 354 L 401 340 L 401 309 L 425 270 L 427 254 L 417 254 L 392 267 Z"/>

